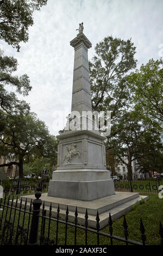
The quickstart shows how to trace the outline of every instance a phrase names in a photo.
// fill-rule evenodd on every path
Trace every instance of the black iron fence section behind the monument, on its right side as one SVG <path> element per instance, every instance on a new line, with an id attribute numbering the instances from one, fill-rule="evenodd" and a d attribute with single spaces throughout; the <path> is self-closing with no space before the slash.
<path id="1" fill-rule="evenodd" d="M 143 192 L 143 193 L 159 193 L 160 186 L 163 181 L 154 180 L 120 180 L 114 181 L 115 191 L 121 192 Z"/>

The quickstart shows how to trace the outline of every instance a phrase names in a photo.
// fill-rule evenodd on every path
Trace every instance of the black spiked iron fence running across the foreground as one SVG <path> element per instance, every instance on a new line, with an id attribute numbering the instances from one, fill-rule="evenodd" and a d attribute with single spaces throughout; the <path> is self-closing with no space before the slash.
<path id="1" fill-rule="evenodd" d="M 49 209 L 45 209 L 42 201 L 41 187 L 37 187 L 35 200 L 30 203 L 24 202 L 22 199 L 18 203 L 18 198 L 10 199 L 5 196 L 0 202 L 0 244 L 1 245 L 60 245 L 61 241 L 67 245 L 77 245 L 79 237 L 83 236 L 82 245 L 90 245 L 90 234 L 94 235 L 95 241 L 93 245 L 101 245 L 106 241 L 108 245 L 115 245 L 121 241 L 124 245 L 146 245 L 146 230 L 140 218 L 140 237 L 142 242 L 129 240 L 128 224 L 126 217 L 123 217 L 123 234 L 124 237 L 114 235 L 112 227 L 111 215 L 108 216 L 109 233 L 101 231 L 100 219 L 97 211 L 96 229 L 89 228 L 89 216 L 87 209 L 85 211 L 85 224 L 78 224 L 78 209 L 74 212 L 74 223 L 68 221 L 68 206 L 66 209 L 65 221 L 60 219 L 60 208 L 58 205 L 57 216 L 52 217 L 52 203 Z M 28 205 L 28 210 L 27 210 Z M 135 230 L 133 230 L 135 232 Z M 160 244 L 163 245 L 163 229 L 160 222 L 158 225 L 158 233 L 160 234 Z M 105 237 L 105 240 L 104 240 Z M 104 244 L 105 244 L 104 243 Z M 81 245 L 81 244 L 80 244 Z"/>

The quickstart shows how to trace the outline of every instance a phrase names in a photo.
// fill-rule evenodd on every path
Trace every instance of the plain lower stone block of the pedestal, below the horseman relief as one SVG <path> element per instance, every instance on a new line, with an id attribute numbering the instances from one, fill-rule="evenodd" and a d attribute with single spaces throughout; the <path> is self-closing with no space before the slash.
<path id="1" fill-rule="evenodd" d="M 114 181 L 106 169 L 55 170 L 48 196 L 90 201 L 115 194 Z"/>

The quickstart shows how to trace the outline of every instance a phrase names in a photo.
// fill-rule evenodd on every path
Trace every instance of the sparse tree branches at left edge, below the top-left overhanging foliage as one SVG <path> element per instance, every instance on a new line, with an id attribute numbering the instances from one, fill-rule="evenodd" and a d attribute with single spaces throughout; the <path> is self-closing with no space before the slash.
<path id="1" fill-rule="evenodd" d="M 15 93 L 9 93 L 5 87 L 15 87 L 16 92 L 28 95 L 31 90 L 29 77 L 24 74 L 20 77 L 13 76 L 17 70 L 17 60 L 13 57 L 0 56 L 0 136 L 3 130 L 3 111 L 8 114 L 20 114 L 29 112 L 29 105 L 25 101 L 19 101 Z M 2 111 L 2 112 L 1 112 Z"/>

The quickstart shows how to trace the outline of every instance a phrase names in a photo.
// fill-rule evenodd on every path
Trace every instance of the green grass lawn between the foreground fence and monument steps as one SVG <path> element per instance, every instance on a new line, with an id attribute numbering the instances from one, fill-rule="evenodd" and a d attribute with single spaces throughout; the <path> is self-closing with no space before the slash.
<path id="1" fill-rule="evenodd" d="M 143 194 L 143 193 L 142 193 Z M 142 218 L 143 225 L 145 227 L 145 234 L 147 237 L 146 243 L 148 245 L 160 245 L 160 235 L 159 235 L 159 221 L 163 225 L 163 198 L 159 199 L 158 194 L 149 194 L 149 200 L 143 204 L 134 206 L 134 209 L 128 214 L 126 214 L 126 220 L 128 224 L 129 240 L 135 240 L 141 242 L 141 233 L 139 231 L 140 227 L 140 217 Z M 2 211 L 1 211 L 2 212 Z M 0 217 L 1 213 L 0 212 Z M 8 211 L 8 216 L 10 211 Z M 11 220 L 14 216 L 14 210 L 11 213 Z M 108 216 L 109 217 L 109 216 Z M 15 225 L 17 225 L 18 212 L 16 213 Z M 22 225 L 23 212 L 21 213 L 20 225 Z M 28 224 L 28 215 L 24 222 L 24 227 Z M 89 220 L 89 219 L 88 219 Z M 11 222 L 11 221 L 10 221 Z M 48 225 L 49 221 L 46 220 L 45 236 L 48 235 Z M 16 227 L 15 227 L 16 228 Z M 55 241 L 57 224 L 54 221 L 50 223 L 50 234 L 49 238 Z M 113 234 L 117 236 L 124 237 L 123 235 L 123 217 L 114 221 L 112 224 Z M 41 219 L 39 224 L 39 233 L 41 230 Z M 103 228 L 101 231 L 109 233 L 109 227 Z M 0 241 L 2 236 L 2 230 L 0 230 Z M 110 239 L 105 236 L 99 236 L 100 245 L 109 245 Z M 59 223 L 59 233 L 58 233 L 58 245 L 65 244 L 65 224 Z M 67 245 L 74 244 L 74 227 L 68 226 L 67 229 Z M 88 232 L 87 233 L 87 244 L 97 245 L 97 235 Z M 114 240 L 114 245 L 123 245 L 121 241 Z M 82 229 L 77 229 L 77 245 L 85 245 L 85 231 Z"/>

